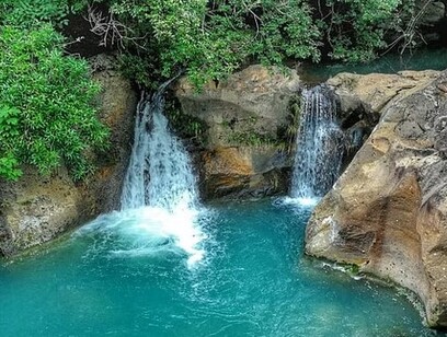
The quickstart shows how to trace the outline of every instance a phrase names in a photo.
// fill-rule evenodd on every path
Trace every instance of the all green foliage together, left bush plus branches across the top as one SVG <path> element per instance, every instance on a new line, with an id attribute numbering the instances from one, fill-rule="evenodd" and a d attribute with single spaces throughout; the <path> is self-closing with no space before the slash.
<path id="1" fill-rule="evenodd" d="M 64 163 L 81 178 L 89 151 L 106 146 L 88 63 L 64 53 L 76 44 L 62 36 L 73 18 L 137 83 L 183 71 L 199 88 L 252 62 L 365 61 L 413 47 L 423 9 L 414 0 L 3 0 L 0 177 Z"/>

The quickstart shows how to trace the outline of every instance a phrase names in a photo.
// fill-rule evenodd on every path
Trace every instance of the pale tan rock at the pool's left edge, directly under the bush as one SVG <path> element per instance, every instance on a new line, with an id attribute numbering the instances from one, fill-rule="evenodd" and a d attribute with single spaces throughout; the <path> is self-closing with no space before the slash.
<path id="1" fill-rule="evenodd" d="M 0 184 L 0 255 L 47 242 L 78 224 L 82 194 L 65 168 L 42 177 L 26 167 L 18 183 Z"/>

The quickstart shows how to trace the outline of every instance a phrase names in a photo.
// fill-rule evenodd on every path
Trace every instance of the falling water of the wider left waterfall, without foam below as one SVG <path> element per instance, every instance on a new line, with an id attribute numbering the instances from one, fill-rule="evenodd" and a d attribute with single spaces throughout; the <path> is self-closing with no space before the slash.
<path id="1" fill-rule="evenodd" d="M 144 206 L 171 212 L 198 207 L 196 179 L 181 141 L 171 135 L 163 116 L 164 83 L 137 107 L 135 141 L 125 177 L 122 209 Z"/>

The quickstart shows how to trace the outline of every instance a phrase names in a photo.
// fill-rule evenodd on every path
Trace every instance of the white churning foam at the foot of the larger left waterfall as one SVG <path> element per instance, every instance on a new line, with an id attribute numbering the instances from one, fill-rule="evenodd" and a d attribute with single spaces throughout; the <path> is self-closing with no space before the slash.
<path id="1" fill-rule="evenodd" d="M 103 246 L 115 257 L 186 254 L 186 265 L 193 268 L 205 256 L 202 246 L 207 235 L 198 223 L 203 212 L 205 210 L 168 211 L 159 207 L 141 207 L 102 216 L 77 234 L 100 233 L 96 248 Z M 116 245 L 104 244 L 110 240 Z"/>

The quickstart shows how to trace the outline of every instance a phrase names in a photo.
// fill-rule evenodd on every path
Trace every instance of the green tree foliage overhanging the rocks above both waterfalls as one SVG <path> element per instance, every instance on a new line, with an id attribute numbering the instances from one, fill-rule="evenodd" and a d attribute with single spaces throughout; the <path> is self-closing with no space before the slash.
<path id="1" fill-rule="evenodd" d="M 163 78 L 183 69 L 197 88 L 252 61 L 319 61 L 321 50 L 333 59 L 370 60 L 387 38 L 406 36 L 405 22 L 415 16 L 414 0 L 111 1 L 112 12 L 141 37 L 140 61 L 126 69 L 140 83 L 137 69 Z"/>

